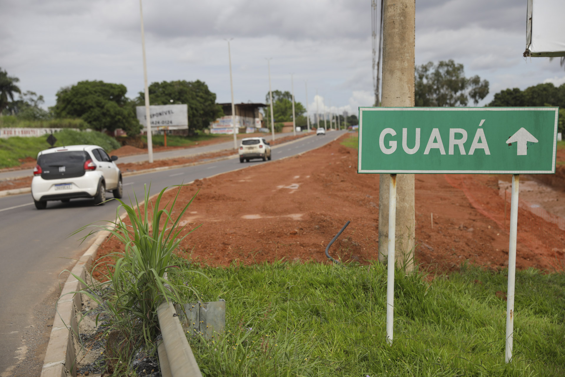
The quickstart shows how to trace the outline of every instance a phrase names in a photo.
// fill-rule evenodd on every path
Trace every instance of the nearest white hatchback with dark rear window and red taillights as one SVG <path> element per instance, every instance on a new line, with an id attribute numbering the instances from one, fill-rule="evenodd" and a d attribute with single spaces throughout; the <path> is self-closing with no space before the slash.
<path id="1" fill-rule="evenodd" d="M 123 195 L 121 172 L 98 145 L 70 145 L 41 151 L 33 169 L 32 196 L 38 210 L 47 201 L 68 202 L 72 198 L 94 198 L 94 204 L 106 200 L 106 191 L 115 198 Z"/>

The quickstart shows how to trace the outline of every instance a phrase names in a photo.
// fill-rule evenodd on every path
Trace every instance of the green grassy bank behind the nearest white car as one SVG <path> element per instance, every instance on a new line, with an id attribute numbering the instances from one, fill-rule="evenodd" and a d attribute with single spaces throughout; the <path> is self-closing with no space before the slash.
<path id="1" fill-rule="evenodd" d="M 120 148 L 120 144 L 104 133 L 91 131 L 79 132 L 64 129 L 53 134 L 57 138 L 55 146 L 73 144 L 95 144 L 106 151 Z M 0 168 L 19 166 L 18 159 L 36 158 L 37 154 L 51 146 L 47 143 L 47 135 L 40 137 L 10 137 L 0 139 Z"/>

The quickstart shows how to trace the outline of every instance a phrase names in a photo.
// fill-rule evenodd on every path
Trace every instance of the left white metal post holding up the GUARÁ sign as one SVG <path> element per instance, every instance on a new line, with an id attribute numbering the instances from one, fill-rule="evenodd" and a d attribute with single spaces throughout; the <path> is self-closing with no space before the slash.
<path id="1" fill-rule="evenodd" d="M 392 345 L 394 319 L 394 241 L 396 240 L 396 174 L 390 175 L 389 242 L 386 271 L 386 341 Z"/>

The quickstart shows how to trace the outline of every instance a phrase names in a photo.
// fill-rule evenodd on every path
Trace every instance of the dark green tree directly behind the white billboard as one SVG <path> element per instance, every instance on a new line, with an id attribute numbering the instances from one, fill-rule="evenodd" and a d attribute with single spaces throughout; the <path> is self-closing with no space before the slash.
<path id="1" fill-rule="evenodd" d="M 136 99 L 138 106 L 145 105 L 145 93 L 140 92 Z M 186 103 L 188 105 L 188 127 L 191 130 L 203 129 L 210 122 L 224 115 L 221 106 L 216 103 L 216 94 L 210 92 L 205 82 L 196 81 L 163 81 L 149 85 L 150 105 L 171 105 Z"/>

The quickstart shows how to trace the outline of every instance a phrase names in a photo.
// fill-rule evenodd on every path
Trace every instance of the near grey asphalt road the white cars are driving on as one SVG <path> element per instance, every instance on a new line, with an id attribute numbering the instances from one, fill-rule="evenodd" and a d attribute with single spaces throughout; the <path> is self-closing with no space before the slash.
<path id="1" fill-rule="evenodd" d="M 272 150 L 272 159 L 289 157 L 327 144 L 346 131 L 328 132 L 326 136 L 311 136 Z M 151 184 L 151 192 L 169 185 L 220 174 L 244 166 L 263 163 L 253 160 L 240 163 L 239 159 L 211 162 L 124 177 L 124 189 L 133 197 L 133 191 L 143 196 L 144 184 Z M 111 197 L 111 194 L 108 194 Z M 30 194 L 0 198 L 0 376 L 39 375 L 41 370 L 42 333 L 50 331 L 45 320 L 46 297 L 55 297 L 59 274 L 72 267 L 89 242 L 80 245 L 80 236 L 68 237 L 76 229 L 96 220 L 113 220 L 117 202 L 93 206 L 92 200 L 72 200 L 68 203 L 48 202 L 47 209 L 37 210 Z M 47 300 L 48 301 L 48 300 Z M 44 307 L 40 307 L 44 305 Z M 43 310 L 38 315 L 38 310 Z M 51 306 L 53 315 L 53 307 Z M 43 318 L 43 319 L 38 319 Z M 51 319 L 52 320 L 52 319 Z M 52 322 L 51 322 L 52 323 Z M 31 339 L 31 330 L 37 335 Z M 45 351 L 43 351 L 45 352 Z M 33 356 L 36 356 L 35 359 Z M 34 360 L 32 362 L 32 360 Z M 25 366 L 27 363 L 33 365 Z M 41 361 L 41 363 L 40 363 Z M 37 369 L 39 368 L 39 369 Z M 25 370 L 25 373 L 24 373 Z M 16 373 L 16 371 L 19 371 Z"/>

